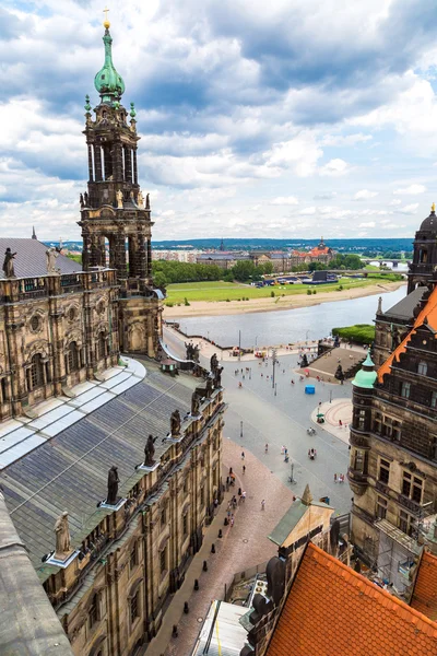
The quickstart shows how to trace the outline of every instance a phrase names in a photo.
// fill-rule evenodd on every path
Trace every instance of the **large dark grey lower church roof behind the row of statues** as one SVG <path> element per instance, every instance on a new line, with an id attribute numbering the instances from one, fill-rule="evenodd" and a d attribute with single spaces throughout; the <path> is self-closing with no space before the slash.
<path id="1" fill-rule="evenodd" d="M 156 459 L 169 447 L 162 437 L 170 414 L 175 408 L 182 417 L 189 411 L 196 380 L 182 374 L 175 382 L 150 363 L 146 368 L 141 383 L 1 471 L 8 509 L 36 569 L 55 547 L 54 526 L 62 511 L 69 513 L 74 546 L 102 520 L 105 511 L 96 504 L 106 499 L 113 465 L 123 494 L 144 476 L 135 465 L 144 460 L 147 435 L 160 436 Z"/>

